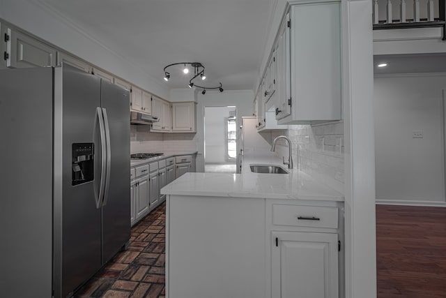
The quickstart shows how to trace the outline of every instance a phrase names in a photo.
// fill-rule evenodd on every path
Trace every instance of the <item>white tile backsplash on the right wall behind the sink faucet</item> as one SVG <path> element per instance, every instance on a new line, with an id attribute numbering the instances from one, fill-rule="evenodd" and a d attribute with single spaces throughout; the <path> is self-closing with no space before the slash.
<path id="1" fill-rule="evenodd" d="M 344 122 L 290 125 L 287 135 L 293 145 L 294 167 L 344 193 Z M 277 144 L 277 151 L 286 158 L 286 143 Z"/>

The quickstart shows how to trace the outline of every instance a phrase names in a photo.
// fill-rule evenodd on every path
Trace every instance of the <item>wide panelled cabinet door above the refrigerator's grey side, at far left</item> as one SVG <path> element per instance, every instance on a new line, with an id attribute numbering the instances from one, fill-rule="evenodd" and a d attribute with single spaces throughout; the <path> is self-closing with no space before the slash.
<path id="1" fill-rule="evenodd" d="M 10 68 L 29 68 L 39 66 L 56 66 L 56 50 L 49 45 L 7 29 L 9 40 L 6 45 L 9 57 L 6 66 Z"/>

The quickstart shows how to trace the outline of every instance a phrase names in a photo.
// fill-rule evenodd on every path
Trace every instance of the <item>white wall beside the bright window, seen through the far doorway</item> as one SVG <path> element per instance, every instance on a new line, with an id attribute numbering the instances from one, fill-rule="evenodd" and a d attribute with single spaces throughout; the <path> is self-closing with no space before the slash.
<path id="1" fill-rule="evenodd" d="M 226 163 L 226 121 L 235 107 L 205 107 L 204 158 L 206 163 Z M 235 161 L 233 161 L 235 163 Z"/>

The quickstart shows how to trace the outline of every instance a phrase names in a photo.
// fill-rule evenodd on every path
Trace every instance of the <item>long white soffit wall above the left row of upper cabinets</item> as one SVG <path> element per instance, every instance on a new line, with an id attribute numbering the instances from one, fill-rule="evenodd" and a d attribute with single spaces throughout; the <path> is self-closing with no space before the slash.
<path id="1" fill-rule="evenodd" d="M 1 0 L 0 18 L 109 73 L 169 100 L 169 89 L 54 10 L 31 0 Z M 69 37 L 69 38 L 68 38 Z"/>

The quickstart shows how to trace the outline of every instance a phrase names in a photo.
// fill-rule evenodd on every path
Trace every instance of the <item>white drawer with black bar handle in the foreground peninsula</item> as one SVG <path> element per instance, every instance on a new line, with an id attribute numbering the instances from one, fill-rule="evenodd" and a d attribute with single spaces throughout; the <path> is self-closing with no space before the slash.
<path id="1" fill-rule="evenodd" d="M 273 225 L 337 228 L 337 207 L 272 205 Z"/>

